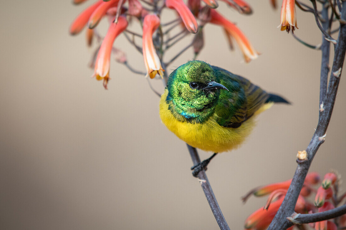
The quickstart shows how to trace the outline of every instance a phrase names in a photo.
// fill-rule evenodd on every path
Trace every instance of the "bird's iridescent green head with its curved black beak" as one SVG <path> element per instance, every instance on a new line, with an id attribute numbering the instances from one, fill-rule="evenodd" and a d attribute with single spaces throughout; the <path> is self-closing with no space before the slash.
<path id="1" fill-rule="evenodd" d="M 179 120 L 202 122 L 213 112 L 220 89 L 212 67 L 204 61 L 189 61 L 179 66 L 167 82 L 167 103 Z"/>

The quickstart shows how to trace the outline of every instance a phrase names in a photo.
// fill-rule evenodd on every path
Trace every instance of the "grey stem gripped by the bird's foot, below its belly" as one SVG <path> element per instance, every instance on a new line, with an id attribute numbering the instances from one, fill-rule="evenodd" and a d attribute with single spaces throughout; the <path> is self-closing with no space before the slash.
<path id="1" fill-rule="evenodd" d="M 186 145 L 188 146 L 189 153 L 190 153 L 193 164 L 195 165 L 195 164 L 200 163 L 201 160 L 199 159 L 199 155 L 197 153 L 196 148 L 194 148 L 188 144 L 186 144 Z M 206 195 L 206 198 L 208 200 L 211 211 L 213 212 L 214 217 L 215 217 L 217 223 L 219 224 L 220 229 L 221 230 L 224 230 L 224 229 L 230 230 L 230 228 L 228 227 L 228 224 L 225 220 L 225 217 L 221 212 L 219 204 L 217 203 L 217 200 L 215 198 L 213 190 L 211 189 L 210 183 L 209 183 L 207 175 L 206 175 L 206 171 L 204 171 L 204 170 L 200 171 L 197 176 L 199 178 L 203 192 Z"/>

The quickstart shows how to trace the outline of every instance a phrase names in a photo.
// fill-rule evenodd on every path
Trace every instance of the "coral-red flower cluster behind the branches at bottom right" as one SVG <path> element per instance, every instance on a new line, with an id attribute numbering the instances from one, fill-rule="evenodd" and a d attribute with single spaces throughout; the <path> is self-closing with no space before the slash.
<path id="1" fill-rule="evenodd" d="M 253 212 L 244 224 L 245 229 L 265 230 L 273 220 L 277 210 L 285 197 L 285 194 L 292 180 L 269 184 L 251 190 L 243 200 L 246 201 L 250 195 L 257 197 L 268 195 L 264 207 Z M 313 185 L 320 182 L 320 176 L 316 172 L 309 173 L 304 181 L 303 188 L 299 194 L 294 211 L 296 213 L 316 213 L 334 209 L 345 197 L 346 193 L 339 198 L 333 197 L 338 192 L 338 177 L 335 172 L 327 173 L 321 183 L 321 186 L 315 190 Z M 315 199 L 310 202 L 307 198 L 311 193 L 316 193 Z M 309 226 L 315 230 L 336 230 L 346 227 L 346 214 L 335 219 L 335 221 L 324 220 L 316 223 L 310 223 Z M 289 229 L 293 229 L 294 226 Z"/>

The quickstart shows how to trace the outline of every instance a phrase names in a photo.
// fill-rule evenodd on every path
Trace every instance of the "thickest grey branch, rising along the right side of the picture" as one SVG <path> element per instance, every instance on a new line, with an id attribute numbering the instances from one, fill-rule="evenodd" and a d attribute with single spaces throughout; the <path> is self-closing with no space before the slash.
<path id="1" fill-rule="evenodd" d="M 343 1 L 341 18 L 346 19 L 346 1 Z M 313 157 L 315 156 L 319 146 L 324 142 L 331 113 L 333 112 L 341 70 L 345 59 L 345 51 L 346 25 L 341 24 L 338 41 L 335 46 L 335 55 L 333 68 L 330 74 L 329 86 L 327 89 L 326 97 L 322 98 L 324 101 L 324 107 L 323 109 L 320 109 L 316 131 L 313 134 L 311 141 L 306 149 L 308 153 L 308 160 L 298 162 L 297 169 L 295 170 L 291 185 L 286 193 L 285 199 L 282 202 L 279 210 L 277 211 L 272 223 L 268 227 L 268 230 L 285 230 L 293 225 L 293 223 L 288 221 L 286 217 L 290 216 L 294 212 L 295 203 L 297 202 L 298 195 L 303 186 L 304 179 L 308 173 Z"/>

